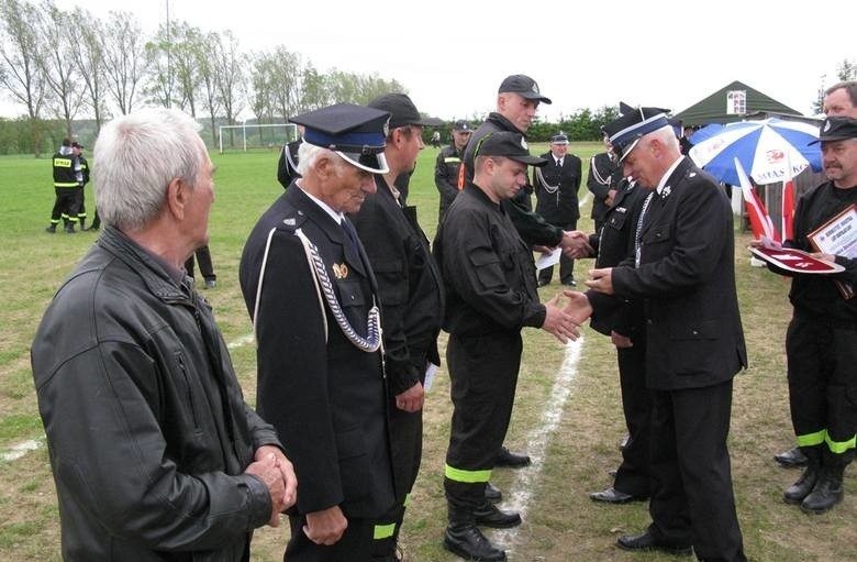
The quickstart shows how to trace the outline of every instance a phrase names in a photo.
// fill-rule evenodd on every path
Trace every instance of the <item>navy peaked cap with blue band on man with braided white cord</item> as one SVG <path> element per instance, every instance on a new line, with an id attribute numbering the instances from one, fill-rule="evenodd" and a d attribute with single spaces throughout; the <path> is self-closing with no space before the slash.
<path id="1" fill-rule="evenodd" d="M 372 174 L 390 170 L 383 156 L 389 120 L 387 111 L 354 103 L 336 103 L 289 119 L 304 126 L 304 142 L 330 148 Z"/>

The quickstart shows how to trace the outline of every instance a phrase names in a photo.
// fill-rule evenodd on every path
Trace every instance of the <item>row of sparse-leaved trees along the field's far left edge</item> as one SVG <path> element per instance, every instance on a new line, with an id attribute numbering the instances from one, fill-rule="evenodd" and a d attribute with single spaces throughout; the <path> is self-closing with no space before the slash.
<path id="1" fill-rule="evenodd" d="M 0 0 L 0 96 L 24 113 L 0 119 L 0 153 L 36 157 L 75 122 L 101 123 L 143 106 L 178 107 L 216 124 L 236 124 L 245 110 L 258 123 L 331 103 L 366 103 L 396 80 L 338 69 L 320 71 L 285 46 L 244 52 L 232 32 L 210 32 L 185 21 L 144 34 L 137 19 L 111 11 L 59 10 L 53 0 Z"/>

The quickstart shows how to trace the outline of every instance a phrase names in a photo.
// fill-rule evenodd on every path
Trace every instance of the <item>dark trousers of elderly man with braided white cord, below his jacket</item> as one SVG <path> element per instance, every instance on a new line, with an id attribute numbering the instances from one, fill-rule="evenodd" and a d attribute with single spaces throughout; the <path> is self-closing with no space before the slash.
<path id="1" fill-rule="evenodd" d="M 307 517 L 290 515 L 291 537 L 282 560 L 287 562 L 356 562 L 370 560 L 372 547 L 372 522 L 369 519 L 348 519 L 348 528 L 333 544 L 315 544 L 303 532 Z"/>

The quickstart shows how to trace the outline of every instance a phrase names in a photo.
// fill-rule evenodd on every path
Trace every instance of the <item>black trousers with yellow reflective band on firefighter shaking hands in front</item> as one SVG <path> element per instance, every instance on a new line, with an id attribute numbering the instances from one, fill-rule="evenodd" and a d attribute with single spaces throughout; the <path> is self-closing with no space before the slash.
<path id="1" fill-rule="evenodd" d="M 444 491 L 449 506 L 472 511 L 497 462 L 512 417 L 523 341 L 521 332 L 449 334 L 453 423 Z"/>

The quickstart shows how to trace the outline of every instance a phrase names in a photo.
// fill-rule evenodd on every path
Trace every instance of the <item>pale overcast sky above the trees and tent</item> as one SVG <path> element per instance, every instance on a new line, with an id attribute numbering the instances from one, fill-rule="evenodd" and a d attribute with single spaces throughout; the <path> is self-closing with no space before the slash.
<path id="1" fill-rule="evenodd" d="M 55 1 L 104 20 L 122 5 L 147 32 L 166 21 L 166 0 Z M 555 121 L 620 100 L 678 112 L 733 80 L 810 114 L 819 88 L 836 81 L 838 64 L 857 60 L 857 3 L 801 4 L 169 0 L 169 16 L 231 30 L 245 51 L 283 45 L 320 70 L 394 78 L 421 111 L 443 119 L 492 110 L 502 79 L 527 74 L 554 101 L 539 115 Z M 2 107 L 2 114 L 20 113 Z"/>

